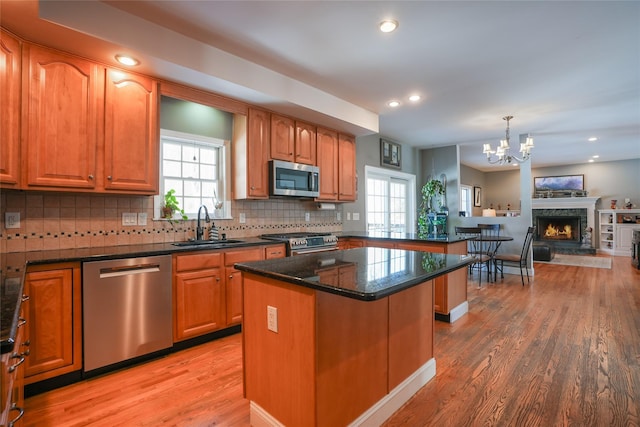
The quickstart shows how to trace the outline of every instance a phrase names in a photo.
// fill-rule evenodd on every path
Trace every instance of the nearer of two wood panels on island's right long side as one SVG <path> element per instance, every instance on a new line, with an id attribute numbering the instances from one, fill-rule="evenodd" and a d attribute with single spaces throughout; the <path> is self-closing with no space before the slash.
<path id="1" fill-rule="evenodd" d="M 387 394 L 388 298 L 317 292 L 316 301 L 317 425 L 347 425 Z"/>

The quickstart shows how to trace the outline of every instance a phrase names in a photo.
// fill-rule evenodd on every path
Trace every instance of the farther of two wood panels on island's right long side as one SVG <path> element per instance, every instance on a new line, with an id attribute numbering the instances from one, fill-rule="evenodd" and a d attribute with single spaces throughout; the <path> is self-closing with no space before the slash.
<path id="1" fill-rule="evenodd" d="M 433 358 L 433 280 L 389 296 L 390 392 Z"/>

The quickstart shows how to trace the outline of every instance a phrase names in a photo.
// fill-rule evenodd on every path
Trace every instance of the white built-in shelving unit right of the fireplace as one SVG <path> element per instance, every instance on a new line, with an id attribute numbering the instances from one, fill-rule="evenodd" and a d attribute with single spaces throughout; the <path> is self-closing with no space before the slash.
<path id="1" fill-rule="evenodd" d="M 631 256 L 633 230 L 640 230 L 640 209 L 599 210 L 599 251 L 611 255 Z"/>

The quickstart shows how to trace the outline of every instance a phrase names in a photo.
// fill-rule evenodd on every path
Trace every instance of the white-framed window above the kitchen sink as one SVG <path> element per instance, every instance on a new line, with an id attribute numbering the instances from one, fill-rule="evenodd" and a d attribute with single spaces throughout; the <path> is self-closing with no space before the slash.
<path id="1" fill-rule="evenodd" d="M 170 189 L 189 218 L 205 205 L 212 218 L 230 218 L 226 200 L 225 171 L 229 142 L 221 139 L 160 130 L 160 195 L 156 217 L 160 217 L 163 195 Z M 222 206 L 215 208 L 216 204 Z"/>

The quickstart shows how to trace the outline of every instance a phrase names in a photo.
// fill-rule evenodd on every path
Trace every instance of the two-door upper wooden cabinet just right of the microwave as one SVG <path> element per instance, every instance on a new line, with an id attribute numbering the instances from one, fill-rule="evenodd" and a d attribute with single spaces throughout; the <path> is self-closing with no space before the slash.
<path id="1" fill-rule="evenodd" d="M 349 135 L 318 128 L 320 201 L 356 200 L 356 142 Z"/>

